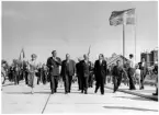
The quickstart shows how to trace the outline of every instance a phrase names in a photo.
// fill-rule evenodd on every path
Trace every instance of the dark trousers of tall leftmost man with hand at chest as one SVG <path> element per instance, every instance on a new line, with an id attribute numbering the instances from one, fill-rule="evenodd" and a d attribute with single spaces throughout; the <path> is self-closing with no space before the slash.
<path id="1" fill-rule="evenodd" d="M 56 92 L 58 87 L 58 76 L 50 76 L 50 90 L 52 92 Z"/>

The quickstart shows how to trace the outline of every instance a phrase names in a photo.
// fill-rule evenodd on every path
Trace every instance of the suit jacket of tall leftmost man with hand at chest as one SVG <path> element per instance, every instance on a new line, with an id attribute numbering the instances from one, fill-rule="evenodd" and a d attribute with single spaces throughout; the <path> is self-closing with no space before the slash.
<path id="1" fill-rule="evenodd" d="M 53 57 L 47 59 L 47 67 L 49 68 L 50 76 L 59 76 L 59 66 L 61 65 L 61 60 L 59 57 L 56 57 L 56 59 L 57 61 L 55 61 Z"/>

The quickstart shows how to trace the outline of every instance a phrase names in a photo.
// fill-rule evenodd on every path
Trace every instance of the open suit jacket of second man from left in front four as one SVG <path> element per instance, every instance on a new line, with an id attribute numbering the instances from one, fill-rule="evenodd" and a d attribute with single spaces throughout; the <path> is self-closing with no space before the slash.
<path id="1" fill-rule="evenodd" d="M 69 64 L 67 66 L 67 60 L 64 60 L 61 62 L 61 72 L 60 72 L 60 76 L 61 77 L 65 77 L 66 73 L 68 73 L 69 76 L 73 76 L 75 74 L 75 71 L 76 71 L 76 67 L 75 67 L 75 61 L 73 60 L 69 60 Z"/>

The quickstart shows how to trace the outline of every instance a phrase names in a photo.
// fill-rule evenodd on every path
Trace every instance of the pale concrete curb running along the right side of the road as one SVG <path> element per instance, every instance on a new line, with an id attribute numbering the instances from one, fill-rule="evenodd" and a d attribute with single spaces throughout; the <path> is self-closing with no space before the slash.
<path id="1" fill-rule="evenodd" d="M 111 88 L 111 87 L 105 87 L 105 88 L 113 90 L 113 88 Z M 133 94 L 133 95 L 137 95 L 137 96 L 145 97 L 145 99 L 149 99 L 149 100 L 152 100 L 152 101 L 158 101 L 158 96 L 155 96 L 155 95 L 145 95 L 145 94 L 139 94 L 139 93 L 136 93 L 136 92 L 125 91 L 125 90 L 121 90 L 121 89 L 118 89 L 117 91 L 128 93 L 128 94 Z"/>

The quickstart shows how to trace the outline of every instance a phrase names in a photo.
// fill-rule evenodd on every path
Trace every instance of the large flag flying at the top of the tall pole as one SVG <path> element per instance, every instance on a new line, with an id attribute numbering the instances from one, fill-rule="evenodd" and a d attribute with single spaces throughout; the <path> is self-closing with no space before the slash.
<path id="1" fill-rule="evenodd" d="M 110 25 L 116 26 L 124 23 L 135 24 L 135 9 L 112 12 L 110 16 Z"/>

